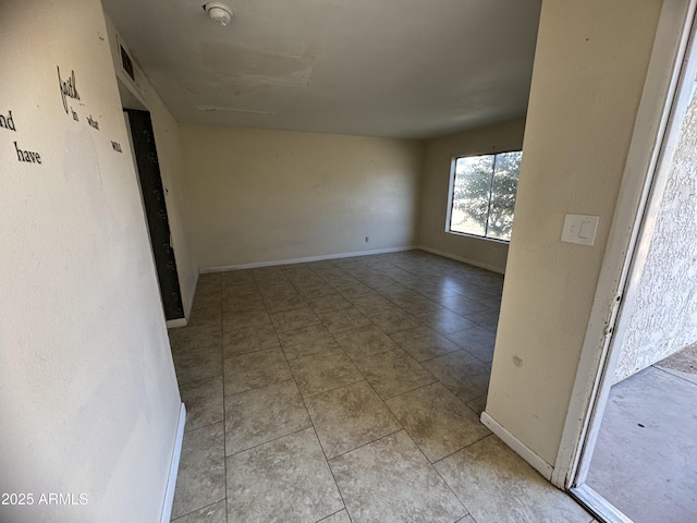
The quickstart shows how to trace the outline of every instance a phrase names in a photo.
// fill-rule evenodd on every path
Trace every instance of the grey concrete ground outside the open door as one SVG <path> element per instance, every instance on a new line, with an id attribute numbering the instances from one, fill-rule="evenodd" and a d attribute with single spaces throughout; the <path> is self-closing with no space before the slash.
<path id="1" fill-rule="evenodd" d="M 634 523 L 697 521 L 697 344 L 612 387 L 586 483 Z"/>

